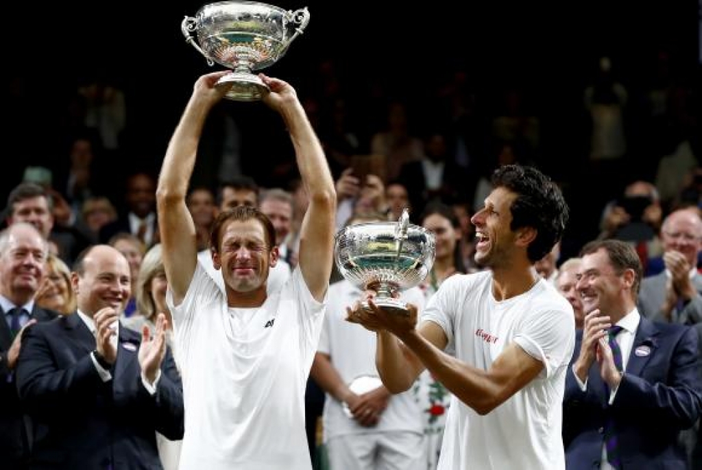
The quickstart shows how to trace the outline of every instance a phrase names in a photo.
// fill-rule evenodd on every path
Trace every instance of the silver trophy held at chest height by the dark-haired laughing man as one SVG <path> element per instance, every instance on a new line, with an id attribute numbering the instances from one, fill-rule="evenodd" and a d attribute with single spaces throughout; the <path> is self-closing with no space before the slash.
<path id="1" fill-rule="evenodd" d="M 345 227 L 336 234 L 334 259 L 346 280 L 363 290 L 377 292 L 377 306 L 397 315 L 409 315 L 400 291 L 414 287 L 434 264 L 434 234 L 409 223 L 405 211 L 397 222 L 369 222 Z M 364 307 L 368 308 L 364 302 Z"/>

